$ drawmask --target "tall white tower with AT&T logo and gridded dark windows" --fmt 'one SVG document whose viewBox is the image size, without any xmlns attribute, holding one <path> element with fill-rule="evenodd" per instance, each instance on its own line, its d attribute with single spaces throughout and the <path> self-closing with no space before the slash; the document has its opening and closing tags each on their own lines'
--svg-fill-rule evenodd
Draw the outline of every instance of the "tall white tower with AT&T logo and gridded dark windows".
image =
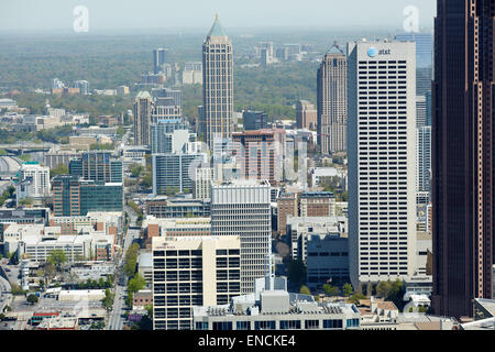
<svg viewBox="0 0 495 352">
<path fill-rule="evenodd" d="M 348 46 L 350 274 L 360 284 L 416 270 L 415 43 Z"/>
</svg>

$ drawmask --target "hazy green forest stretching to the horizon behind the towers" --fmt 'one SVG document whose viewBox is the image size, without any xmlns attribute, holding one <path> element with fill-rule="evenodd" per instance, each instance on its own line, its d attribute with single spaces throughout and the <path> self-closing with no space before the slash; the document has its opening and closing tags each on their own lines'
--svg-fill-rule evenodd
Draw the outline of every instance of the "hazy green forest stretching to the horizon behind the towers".
<svg viewBox="0 0 495 352">
<path fill-rule="evenodd" d="M 170 63 L 179 67 L 188 61 L 201 61 L 201 34 L 168 35 L 74 35 L 1 37 L 0 92 L 19 89 L 21 107 L 42 113 L 46 99 L 55 108 L 97 114 L 118 114 L 132 108 L 136 94 L 133 86 L 141 74 L 152 70 L 152 51 L 169 50 Z M 316 103 L 317 62 L 284 63 L 268 67 L 242 67 L 256 63 L 252 55 L 258 42 L 273 41 L 274 50 L 284 43 L 309 43 L 321 55 L 334 40 L 341 44 L 352 35 L 318 33 L 262 33 L 232 36 L 234 46 L 234 109 L 263 110 L 270 119 L 295 119 L 293 105 L 299 99 Z M 53 78 L 72 87 L 85 79 L 90 89 L 116 89 L 125 85 L 131 96 L 121 97 L 53 97 L 33 95 L 34 89 L 48 90 Z M 167 84 L 174 85 L 174 81 Z M 195 119 L 202 103 L 200 86 L 182 86 L 184 114 Z"/>
</svg>

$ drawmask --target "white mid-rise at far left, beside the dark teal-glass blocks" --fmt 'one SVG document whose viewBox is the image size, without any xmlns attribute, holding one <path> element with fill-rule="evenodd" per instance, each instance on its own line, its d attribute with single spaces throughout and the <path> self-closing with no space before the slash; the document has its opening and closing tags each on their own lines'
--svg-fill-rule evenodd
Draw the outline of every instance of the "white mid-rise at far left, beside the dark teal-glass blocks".
<svg viewBox="0 0 495 352">
<path fill-rule="evenodd" d="M 19 205 L 21 199 L 43 198 L 50 196 L 50 168 L 36 162 L 28 162 L 19 169 L 19 180 L 15 184 L 15 198 Z"/>
</svg>

